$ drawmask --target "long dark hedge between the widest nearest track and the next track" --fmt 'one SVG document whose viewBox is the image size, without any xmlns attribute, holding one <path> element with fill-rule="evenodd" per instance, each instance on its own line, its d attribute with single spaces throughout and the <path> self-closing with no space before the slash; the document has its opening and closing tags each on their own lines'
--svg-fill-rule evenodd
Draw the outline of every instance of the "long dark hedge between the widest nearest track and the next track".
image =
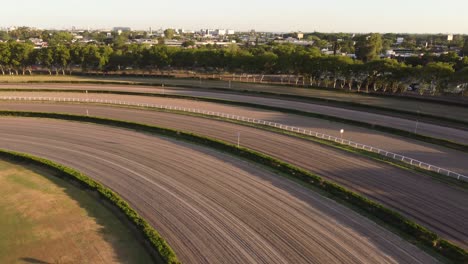
<svg viewBox="0 0 468 264">
<path fill-rule="evenodd" d="M 350 204 L 355 206 L 360 211 L 369 214 L 379 221 L 384 222 L 389 225 L 391 228 L 397 230 L 399 233 L 403 234 L 404 237 L 409 240 L 411 243 L 416 245 L 427 247 L 432 249 L 434 252 L 440 254 L 442 257 L 450 260 L 454 263 L 467 263 L 468 262 L 468 252 L 464 249 L 452 244 L 449 241 L 446 241 L 440 238 L 434 232 L 428 230 L 427 228 L 407 219 L 396 211 L 393 211 L 389 208 L 384 207 L 383 205 L 376 203 L 372 200 L 365 198 L 357 193 L 351 192 L 342 186 L 324 180 L 322 177 L 306 171 L 304 169 L 298 168 L 281 160 L 275 159 L 271 156 L 243 148 L 237 147 L 236 145 L 226 143 L 224 141 L 208 138 L 205 136 L 196 135 L 193 133 L 182 132 L 178 130 L 162 128 L 157 126 L 151 126 L 147 124 L 128 122 L 115 119 L 107 119 L 100 117 L 89 117 L 81 115 L 69 115 L 69 114 L 60 114 L 60 113 L 42 113 L 42 112 L 20 112 L 20 111 L 0 111 L 2 116 L 16 116 L 16 117 L 38 117 L 38 118 L 54 118 L 70 121 L 80 121 L 80 122 L 89 122 L 101 125 L 115 126 L 121 128 L 128 128 L 142 132 L 149 132 L 158 134 L 161 136 L 167 136 L 175 139 L 180 139 L 188 141 L 191 143 L 196 143 L 204 146 L 211 147 L 216 150 L 223 152 L 231 153 L 233 155 L 239 156 L 241 158 L 253 161 L 258 164 L 262 164 L 266 167 L 274 169 L 280 173 L 286 174 L 296 180 L 310 184 L 311 186 L 318 188 L 325 193 L 329 194 L 333 199 L 344 202 L 345 204 Z M 88 178 L 89 179 L 89 178 Z M 96 183 L 94 183 L 96 184 Z M 113 194 L 113 193 L 112 193 Z M 120 201 L 123 203 L 123 201 Z M 128 207 L 126 207 L 128 208 Z M 133 212 L 134 213 L 134 212 Z M 134 213 L 136 215 L 136 213 Z M 138 216 L 138 215 L 136 215 Z M 144 222 L 143 219 L 137 218 L 139 221 Z M 140 223 L 140 222 L 139 222 Z M 146 224 L 147 225 L 147 224 Z M 149 228 L 149 226 L 145 226 Z M 147 230 L 147 229 L 145 229 Z M 157 234 L 157 233 L 156 233 Z M 162 239 L 160 241 L 163 241 Z M 169 254 L 172 251 L 169 251 L 167 247 L 168 257 L 173 257 L 175 255 Z M 169 260 L 172 260 L 169 259 Z"/>
</svg>

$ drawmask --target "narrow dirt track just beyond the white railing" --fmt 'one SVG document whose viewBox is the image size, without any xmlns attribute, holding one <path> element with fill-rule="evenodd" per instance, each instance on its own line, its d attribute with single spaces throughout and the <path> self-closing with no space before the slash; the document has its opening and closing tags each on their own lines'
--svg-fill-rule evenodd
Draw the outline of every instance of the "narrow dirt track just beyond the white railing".
<svg viewBox="0 0 468 264">
<path fill-rule="evenodd" d="M 449 169 L 463 175 L 468 175 L 468 153 L 457 151 L 438 145 L 423 143 L 417 140 L 398 137 L 371 129 L 359 128 L 341 123 L 329 122 L 322 119 L 304 116 L 284 114 L 275 111 L 266 111 L 255 108 L 230 106 L 216 103 L 200 102 L 193 100 L 158 98 L 148 96 L 129 96 L 112 94 L 80 94 L 80 93 L 35 93 L 35 92 L 2 92 L 0 96 L 51 96 L 51 97 L 73 97 L 94 98 L 108 100 L 124 100 L 138 103 L 153 103 L 159 105 L 173 105 L 189 108 L 198 108 L 209 111 L 219 111 L 228 114 L 237 114 L 246 117 L 278 122 L 285 125 L 297 126 L 321 133 L 339 137 L 340 129 L 344 129 L 344 138 L 359 143 L 378 147 L 390 152 L 399 153 L 423 162 Z M 37 107 L 37 106 L 36 106 Z M 0 102 L 0 109 L 15 109 L 10 103 Z M 86 113 L 84 108 L 79 114 Z M 44 111 L 47 111 L 45 109 Z M 468 141 L 468 138 L 467 138 Z"/>
</svg>

